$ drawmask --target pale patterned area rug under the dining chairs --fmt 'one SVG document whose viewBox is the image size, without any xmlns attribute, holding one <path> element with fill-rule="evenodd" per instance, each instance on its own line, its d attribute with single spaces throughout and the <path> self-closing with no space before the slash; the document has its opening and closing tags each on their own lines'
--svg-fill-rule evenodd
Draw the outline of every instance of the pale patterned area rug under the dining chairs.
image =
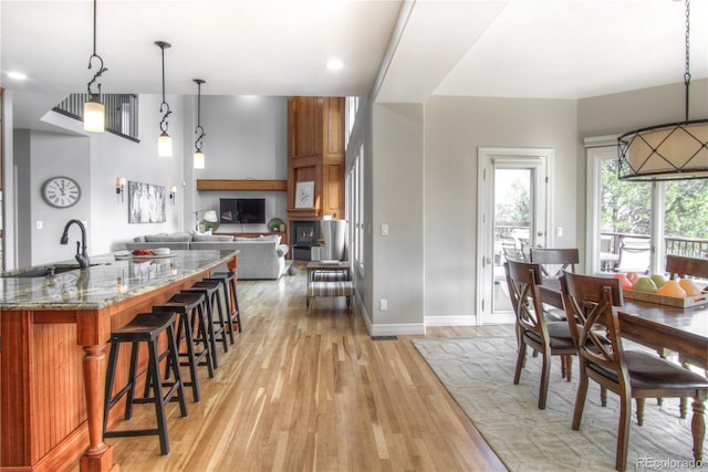
<svg viewBox="0 0 708 472">
<path fill-rule="evenodd" d="M 413 339 L 467 417 L 511 471 L 612 471 L 620 407 L 591 381 L 580 431 L 571 429 L 577 387 L 561 378 L 554 357 L 545 410 L 538 409 L 541 359 L 528 356 L 519 385 L 513 385 L 514 337 Z M 530 349 L 529 349 L 530 350 Z M 634 403 L 633 403 L 634 406 Z M 633 411 L 634 415 L 634 411 Z M 647 399 L 644 424 L 632 418 L 627 470 L 695 470 L 690 416 L 678 415 L 678 399 L 662 407 Z"/>
</svg>

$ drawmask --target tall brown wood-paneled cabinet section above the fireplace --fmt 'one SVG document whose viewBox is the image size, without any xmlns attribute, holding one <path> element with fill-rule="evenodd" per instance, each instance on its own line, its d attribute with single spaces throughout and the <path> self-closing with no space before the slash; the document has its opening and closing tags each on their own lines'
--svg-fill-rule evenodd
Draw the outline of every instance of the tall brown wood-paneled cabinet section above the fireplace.
<svg viewBox="0 0 708 472">
<path fill-rule="evenodd" d="M 314 182 L 312 207 L 295 201 Z M 306 185 L 305 185 L 306 186 Z M 344 218 L 344 98 L 288 98 L 288 219 Z"/>
</svg>

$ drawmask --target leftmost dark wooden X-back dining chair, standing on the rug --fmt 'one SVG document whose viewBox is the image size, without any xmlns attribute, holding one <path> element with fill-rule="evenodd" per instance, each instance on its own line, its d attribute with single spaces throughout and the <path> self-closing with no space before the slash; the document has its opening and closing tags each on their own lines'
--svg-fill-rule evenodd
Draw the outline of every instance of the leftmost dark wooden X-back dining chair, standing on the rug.
<svg viewBox="0 0 708 472">
<path fill-rule="evenodd" d="M 541 266 L 525 262 L 507 261 L 504 263 L 507 283 L 511 305 L 516 313 L 516 329 L 518 345 L 517 368 L 513 376 L 514 385 L 519 384 L 521 369 L 525 363 L 527 346 L 541 357 L 541 385 L 539 388 L 539 408 L 545 408 L 549 377 L 551 373 L 551 356 L 561 356 L 561 374 L 569 381 L 571 379 L 572 357 L 575 346 L 565 321 L 545 319 L 543 303 L 554 303 L 550 296 L 541 295 Z M 562 300 L 560 301 L 562 308 Z"/>
</svg>

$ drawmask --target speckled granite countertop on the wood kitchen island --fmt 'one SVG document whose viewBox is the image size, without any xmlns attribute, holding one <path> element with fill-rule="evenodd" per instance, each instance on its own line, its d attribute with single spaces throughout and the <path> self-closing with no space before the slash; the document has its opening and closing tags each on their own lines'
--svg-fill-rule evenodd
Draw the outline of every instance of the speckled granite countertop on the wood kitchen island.
<svg viewBox="0 0 708 472">
<path fill-rule="evenodd" d="M 0 277 L 2 310 L 98 310 L 187 279 L 195 272 L 225 264 L 238 251 L 177 251 L 169 256 L 133 258 L 122 251 L 91 256 L 91 266 L 55 275 L 21 276 L 48 265 L 65 268 L 75 261 L 6 272 Z M 20 276 L 19 276 L 20 275 Z"/>
</svg>

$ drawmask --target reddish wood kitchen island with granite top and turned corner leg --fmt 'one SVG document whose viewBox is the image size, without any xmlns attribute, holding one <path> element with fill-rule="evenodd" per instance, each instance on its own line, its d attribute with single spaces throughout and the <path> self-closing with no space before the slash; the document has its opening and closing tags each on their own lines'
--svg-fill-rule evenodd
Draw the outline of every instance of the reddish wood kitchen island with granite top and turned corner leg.
<svg viewBox="0 0 708 472">
<path fill-rule="evenodd" d="M 103 441 L 106 342 L 138 313 L 228 266 L 238 251 L 92 256 L 0 279 L 0 470 L 117 470 Z M 124 360 L 127 358 L 123 358 Z M 123 361 L 117 378 L 127 378 Z"/>
</svg>

